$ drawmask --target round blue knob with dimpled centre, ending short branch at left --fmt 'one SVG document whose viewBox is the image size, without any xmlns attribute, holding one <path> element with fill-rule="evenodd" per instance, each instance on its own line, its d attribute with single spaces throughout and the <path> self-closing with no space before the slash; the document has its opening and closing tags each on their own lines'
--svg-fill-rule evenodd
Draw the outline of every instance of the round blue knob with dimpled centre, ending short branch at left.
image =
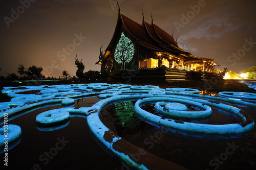
<svg viewBox="0 0 256 170">
<path fill-rule="evenodd" d="M 58 126 L 69 121 L 70 114 L 64 110 L 49 110 L 36 116 L 36 124 L 40 127 Z"/>
</svg>

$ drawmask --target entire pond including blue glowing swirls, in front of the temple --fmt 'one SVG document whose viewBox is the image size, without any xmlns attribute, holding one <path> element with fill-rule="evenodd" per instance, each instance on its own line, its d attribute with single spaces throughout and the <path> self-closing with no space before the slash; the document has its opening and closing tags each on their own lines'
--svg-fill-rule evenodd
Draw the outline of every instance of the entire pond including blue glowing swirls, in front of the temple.
<svg viewBox="0 0 256 170">
<path fill-rule="evenodd" d="M 250 93 L 234 92 L 230 98 L 196 89 L 106 83 L 3 92 L 11 98 L 1 94 L 0 106 L 10 108 L 2 109 L 0 127 L 8 113 L 8 125 L 22 131 L 7 152 L 2 147 L 9 169 L 256 168 L 256 106 Z M 74 103 L 63 105 L 67 98 Z M 38 127 L 37 116 L 49 111 L 70 116 L 65 124 Z"/>
</svg>

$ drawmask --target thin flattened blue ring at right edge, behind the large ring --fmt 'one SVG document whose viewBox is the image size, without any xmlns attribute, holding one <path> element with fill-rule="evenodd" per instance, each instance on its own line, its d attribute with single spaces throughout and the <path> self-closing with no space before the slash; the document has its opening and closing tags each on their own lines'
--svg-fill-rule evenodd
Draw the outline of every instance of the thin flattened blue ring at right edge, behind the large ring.
<svg viewBox="0 0 256 170">
<path fill-rule="evenodd" d="M 225 98 L 241 99 L 241 100 L 256 100 L 256 93 L 236 92 L 236 91 L 222 91 L 219 95 Z"/>
</svg>

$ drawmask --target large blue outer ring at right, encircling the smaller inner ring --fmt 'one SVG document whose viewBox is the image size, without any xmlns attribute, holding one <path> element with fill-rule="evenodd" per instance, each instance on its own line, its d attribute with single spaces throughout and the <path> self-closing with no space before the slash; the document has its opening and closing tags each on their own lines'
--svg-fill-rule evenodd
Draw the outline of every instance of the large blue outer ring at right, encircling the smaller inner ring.
<svg viewBox="0 0 256 170">
<path fill-rule="evenodd" d="M 244 111 L 229 105 L 225 105 L 225 109 L 229 110 L 234 114 L 239 115 L 240 117 L 243 117 L 243 120 L 244 120 L 243 123 L 227 124 L 227 125 L 207 125 L 207 124 L 188 123 L 180 120 L 163 118 L 161 116 L 154 115 L 140 108 L 140 106 L 142 106 L 145 103 L 164 101 L 164 100 L 166 100 L 166 98 L 145 98 L 142 100 L 138 100 L 134 106 L 135 113 L 139 117 L 143 118 L 146 122 L 158 128 L 160 126 L 164 126 L 166 128 L 171 128 L 171 129 L 175 128 L 175 129 L 190 131 L 190 132 L 211 133 L 211 134 L 237 134 L 237 133 L 250 131 L 254 127 L 254 122 L 249 115 L 247 115 Z"/>
</svg>

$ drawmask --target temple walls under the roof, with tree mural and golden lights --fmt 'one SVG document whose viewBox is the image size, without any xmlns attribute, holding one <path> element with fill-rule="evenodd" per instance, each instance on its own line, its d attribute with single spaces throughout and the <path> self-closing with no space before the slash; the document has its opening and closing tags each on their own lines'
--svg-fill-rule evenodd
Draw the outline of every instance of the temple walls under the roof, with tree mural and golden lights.
<svg viewBox="0 0 256 170">
<path fill-rule="evenodd" d="M 162 58 L 161 65 L 165 65 L 167 68 L 185 69 L 187 71 L 209 71 L 205 65 L 205 61 L 202 60 L 186 61 L 179 59 L 178 56 L 176 56 L 175 59 L 172 59 L 172 56 L 168 61 L 166 56 L 163 56 L 163 53 L 140 46 L 132 36 L 126 33 L 125 29 L 120 30 L 117 42 L 110 52 L 110 55 L 112 54 L 114 57 L 112 71 L 117 68 L 133 69 L 134 67 L 137 68 L 137 66 L 140 68 L 156 68 L 160 66 L 159 58 Z"/>
</svg>

